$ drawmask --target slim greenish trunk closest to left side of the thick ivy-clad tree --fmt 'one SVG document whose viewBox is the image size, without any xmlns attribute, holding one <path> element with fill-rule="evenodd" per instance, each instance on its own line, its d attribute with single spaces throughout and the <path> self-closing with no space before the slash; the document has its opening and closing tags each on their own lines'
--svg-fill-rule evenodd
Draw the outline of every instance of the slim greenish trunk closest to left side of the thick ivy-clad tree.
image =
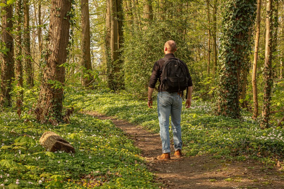
<svg viewBox="0 0 284 189">
<path fill-rule="evenodd" d="M 213 74 L 216 74 L 217 69 L 217 0 L 214 0 L 214 6 L 213 6 Z"/>
</svg>

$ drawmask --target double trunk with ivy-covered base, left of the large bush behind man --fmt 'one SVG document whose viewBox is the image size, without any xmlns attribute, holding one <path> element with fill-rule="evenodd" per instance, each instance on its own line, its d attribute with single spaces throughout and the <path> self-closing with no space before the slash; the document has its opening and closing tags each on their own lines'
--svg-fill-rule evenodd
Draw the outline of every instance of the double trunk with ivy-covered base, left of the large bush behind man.
<svg viewBox="0 0 284 189">
<path fill-rule="evenodd" d="M 121 0 L 107 0 L 106 12 L 106 50 L 108 87 L 114 91 L 124 87 L 121 73 L 121 48 L 123 45 L 122 3 Z"/>
</svg>

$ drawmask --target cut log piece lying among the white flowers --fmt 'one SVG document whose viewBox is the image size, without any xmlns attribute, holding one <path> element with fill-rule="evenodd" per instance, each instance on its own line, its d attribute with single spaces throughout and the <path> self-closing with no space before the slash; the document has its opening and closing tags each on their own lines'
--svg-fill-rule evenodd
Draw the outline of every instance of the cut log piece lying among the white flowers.
<svg viewBox="0 0 284 189">
<path fill-rule="evenodd" d="M 39 139 L 39 142 L 48 151 L 65 151 L 67 153 L 75 153 L 75 148 L 71 146 L 68 141 L 51 131 L 43 133 L 43 135 Z"/>
</svg>

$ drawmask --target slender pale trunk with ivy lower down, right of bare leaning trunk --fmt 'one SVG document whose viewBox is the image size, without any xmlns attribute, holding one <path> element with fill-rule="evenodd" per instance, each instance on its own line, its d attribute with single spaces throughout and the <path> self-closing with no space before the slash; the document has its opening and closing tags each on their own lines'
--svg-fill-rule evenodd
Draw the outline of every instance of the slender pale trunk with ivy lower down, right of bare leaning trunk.
<svg viewBox="0 0 284 189">
<path fill-rule="evenodd" d="M 270 120 L 270 100 L 271 88 L 273 85 L 272 79 L 272 0 L 267 0 L 266 4 L 266 40 L 265 40 L 265 63 L 264 63 L 264 96 L 262 108 L 261 128 L 269 127 Z"/>
</svg>

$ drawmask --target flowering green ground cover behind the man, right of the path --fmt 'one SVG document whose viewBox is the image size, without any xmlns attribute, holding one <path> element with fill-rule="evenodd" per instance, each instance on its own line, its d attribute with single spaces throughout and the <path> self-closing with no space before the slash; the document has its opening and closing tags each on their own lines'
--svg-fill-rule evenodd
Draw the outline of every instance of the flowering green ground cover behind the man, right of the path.
<svg viewBox="0 0 284 189">
<path fill-rule="evenodd" d="M 82 111 L 97 111 L 159 132 L 156 101 L 150 109 L 146 101 L 130 94 L 109 93 L 107 90 L 81 91 L 69 94 L 66 105 Z M 258 159 L 274 164 L 283 162 L 284 135 L 282 128 L 261 130 L 259 123 L 243 112 L 241 120 L 212 115 L 210 102 L 192 102 L 182 110 L 183 152 L 188 155 L 212 154 L 215 158 L 235 160 Z M 276 161 L 275 161 L 276 160 Z"/>
</svg>

